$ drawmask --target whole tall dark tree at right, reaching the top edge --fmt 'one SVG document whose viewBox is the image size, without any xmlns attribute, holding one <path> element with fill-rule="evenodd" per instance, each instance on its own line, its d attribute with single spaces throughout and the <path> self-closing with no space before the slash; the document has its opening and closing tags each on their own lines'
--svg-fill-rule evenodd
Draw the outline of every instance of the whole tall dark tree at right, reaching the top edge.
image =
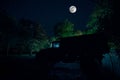
<svg viewBox="0 0 120 80">
<path fill-rule="evenodd" d="M 96 3 L 96 7 L 87 26 L 93 30 L 95 28 L 96 32 L 104 32 L 109 38 L 109 43 L 115 44 L 120 50 L 119 2 L 117 0 L 91 1 Z"/>
</svg>

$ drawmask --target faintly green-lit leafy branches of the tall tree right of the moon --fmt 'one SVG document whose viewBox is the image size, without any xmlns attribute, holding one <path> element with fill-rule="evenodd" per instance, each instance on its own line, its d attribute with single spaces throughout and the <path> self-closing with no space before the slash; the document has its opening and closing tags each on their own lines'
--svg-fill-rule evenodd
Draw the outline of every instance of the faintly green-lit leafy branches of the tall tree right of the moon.
<svg viewBox="0 0 120 80">
<path fill-rule="evenodd" d="M 90 15 L 90 20 L 87 23 L 87 27 L 89 28 L 88 32 L 96 33 L 104 31 L 104 29 L 106 29 L 106 23 L 108 23 L 106 19 L 110 19 L 112 13 L 108 0 L 99 1 L 99 4 L 96 4 L 93 13 Z"/>
</svg>

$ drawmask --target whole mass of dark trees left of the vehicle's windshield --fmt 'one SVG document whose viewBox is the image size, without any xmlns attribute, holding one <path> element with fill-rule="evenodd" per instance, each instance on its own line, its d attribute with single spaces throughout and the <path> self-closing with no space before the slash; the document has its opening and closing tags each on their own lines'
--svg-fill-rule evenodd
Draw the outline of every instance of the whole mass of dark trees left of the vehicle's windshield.
<svg viewBox="0 0 120 80">
<path fill-rule="evenodd" d="M 38 52 L 49 47 L 47 33 L 41 24 L 32 20 L 16 21 L 5 10 L 0 10 L 0 53 Z"/>
</svg>

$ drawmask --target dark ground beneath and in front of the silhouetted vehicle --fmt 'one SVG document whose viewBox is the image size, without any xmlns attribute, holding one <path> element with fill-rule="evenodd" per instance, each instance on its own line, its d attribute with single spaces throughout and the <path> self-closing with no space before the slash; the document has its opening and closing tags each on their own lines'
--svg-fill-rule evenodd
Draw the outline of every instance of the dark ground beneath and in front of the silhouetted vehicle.
<svg viewBox="0 0 120 80">
<path fill-rule="evenodd" d="M 44 69 L 36 63 L 35 57 L 0 57 L 0 80 L 91 80 L 82 72 L 78 62 L 56 63 L 48 75 L 44 75 Z M 89 68 L 89 67 L 88 67 Z M 42 71 L 42 72 L 40 72 Z M 109 71 L 102 70 L 97 80 L 120 80 Z M 99 73 L 99 72 L 98 72 Z M 91 72 L 92 74 L 92 72 Z M 98 76 L 94 76 L 98 77 Z"/>
</svg>

